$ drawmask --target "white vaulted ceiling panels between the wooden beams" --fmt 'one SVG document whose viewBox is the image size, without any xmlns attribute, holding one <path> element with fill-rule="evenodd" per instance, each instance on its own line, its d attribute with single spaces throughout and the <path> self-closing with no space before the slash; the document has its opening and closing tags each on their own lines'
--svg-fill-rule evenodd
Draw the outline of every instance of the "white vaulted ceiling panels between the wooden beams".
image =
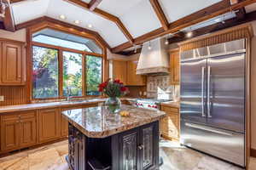
<svg viewBox="0 0 256 170">
<path fill-rule="evenodd" d="M 90 0 L 83 1 L 90 3 Z M 220 0 L 159 1 L 166 14 L 167 20 L 173 22 L 201 8 L 206 8 L 213 3 L 218 3 Z M 81 20 L 78 26 L 99 32 L 112 48 L 127 42 L 124 34 L 112 21 L 103 19 L 84 8 L 79 8 L 63 0 L 27 0 L 20 3 L 13 3 L 12 7 L 15 24 L 20 24 L 44 15 L 56 20 L 61 20 L 59 16 L 64 14 L 67 19 L 63 21 L 75 25 L 74 20 Z M 149 0 L 103 0 L 98 8 L 119 17 L 134 38 L 161 27 L 160 21 L 154 13 L 154 9 L 151 7 Z M 250 5 L 246 9 L 247 12 L 251 12 L 256 9 L 256 4 Z M 93 27 L 89 28 L 89 24 Z"/>
</svg>

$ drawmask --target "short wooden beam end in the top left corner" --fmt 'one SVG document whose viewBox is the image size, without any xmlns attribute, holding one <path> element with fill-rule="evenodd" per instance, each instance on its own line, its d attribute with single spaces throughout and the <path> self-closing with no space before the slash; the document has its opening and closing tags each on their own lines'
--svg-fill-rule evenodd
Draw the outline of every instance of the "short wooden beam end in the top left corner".
<svg viewBox="0 0 256 170">
<path fill-rule="evenodd" d="M 4 0 L 7 2 L 7 0 Z M 12 8 L 8 7 L 5 9 L 5 17 L 3 18 L 3 25 L 7 31 L 15 31 L 15 19 L 13 16 Z"/>
</svg>

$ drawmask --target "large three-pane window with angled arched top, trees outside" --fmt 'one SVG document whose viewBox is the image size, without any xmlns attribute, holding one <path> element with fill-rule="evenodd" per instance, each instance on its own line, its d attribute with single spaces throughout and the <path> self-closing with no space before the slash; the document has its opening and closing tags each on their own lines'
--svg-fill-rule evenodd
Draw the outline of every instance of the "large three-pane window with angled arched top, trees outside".
<svg viewBox="0 0 256 170">
<path fill-rule="evenodd" d="M 32 34 L 32 97 L 100 95 L 102 48 L 94 40 L 49 28 Z"/>
</svg>

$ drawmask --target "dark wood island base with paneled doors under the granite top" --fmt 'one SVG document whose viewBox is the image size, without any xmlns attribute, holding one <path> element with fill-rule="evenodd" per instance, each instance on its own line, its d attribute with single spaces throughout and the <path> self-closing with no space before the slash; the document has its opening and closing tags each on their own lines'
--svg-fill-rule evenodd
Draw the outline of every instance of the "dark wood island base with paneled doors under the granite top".
<svg viewBox="0 0 256 170">
<path fill-rule="evenodd" d="M 104 139 L 88 138 L 70 123 L 68 133 L 72 170 L 159 169 L 158 121 Z"/>
</svg>

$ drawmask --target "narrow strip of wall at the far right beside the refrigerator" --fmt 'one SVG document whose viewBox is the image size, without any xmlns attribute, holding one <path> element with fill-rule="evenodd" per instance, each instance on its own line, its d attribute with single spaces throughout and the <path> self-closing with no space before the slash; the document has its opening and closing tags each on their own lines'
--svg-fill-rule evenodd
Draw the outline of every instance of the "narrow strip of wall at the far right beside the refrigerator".
<svg viewBox="0 0 256 170">
<path fill-rule="evenodd" d="M 252 39 L 251 54 L 251 134 L 253 150 L 256 150 L 256 22 L 252 22 L 254 37 Z"/>
</svg>

